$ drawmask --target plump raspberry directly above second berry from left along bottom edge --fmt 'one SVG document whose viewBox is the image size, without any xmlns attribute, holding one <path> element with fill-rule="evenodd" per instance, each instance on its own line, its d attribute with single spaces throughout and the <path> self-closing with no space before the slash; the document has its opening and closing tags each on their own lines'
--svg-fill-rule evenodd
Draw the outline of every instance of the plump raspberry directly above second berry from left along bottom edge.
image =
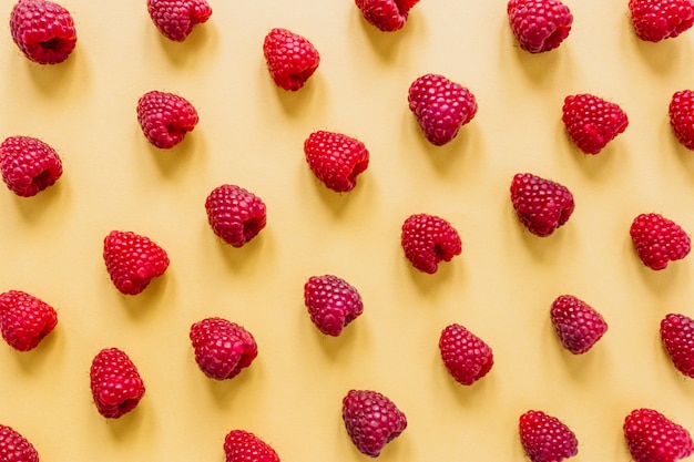
<svg viewBox="0 0 694 462">
<path fill-rule="evenodd" d="M 255 339 L 236 322 L 206 318 L 191 326 L 195 361 L 205 376 L 225 380 L 236 377 L 258 355 Z"/>
</svg>

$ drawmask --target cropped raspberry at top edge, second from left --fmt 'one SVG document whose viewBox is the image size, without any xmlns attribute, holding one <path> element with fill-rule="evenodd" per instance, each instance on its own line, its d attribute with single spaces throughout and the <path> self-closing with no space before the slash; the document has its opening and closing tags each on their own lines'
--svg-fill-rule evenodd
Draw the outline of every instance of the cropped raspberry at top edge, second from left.
<svg viewBox="0 0 694 462">
<path fill-rule="evenodd" d="M 183 42 L 193 27 L 212 16 L 205 0 L 147 0 L 147 11 L 156 29 L 175 42 Z"/>
</svg>

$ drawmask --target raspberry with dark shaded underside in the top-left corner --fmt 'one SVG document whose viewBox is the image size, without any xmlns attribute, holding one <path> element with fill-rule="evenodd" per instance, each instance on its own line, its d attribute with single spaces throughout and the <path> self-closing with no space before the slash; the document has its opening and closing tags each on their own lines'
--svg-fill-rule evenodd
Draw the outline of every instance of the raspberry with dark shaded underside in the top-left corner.
<svg viewBox="0 0 694 462">
<path fill-rule="evenodd" d="M 65 61 L 78 42 L 70 12 L 48 0 L 19 0 L 10 14 L 10 31 L 21 52 L 39 64 Z"/>
</svg>

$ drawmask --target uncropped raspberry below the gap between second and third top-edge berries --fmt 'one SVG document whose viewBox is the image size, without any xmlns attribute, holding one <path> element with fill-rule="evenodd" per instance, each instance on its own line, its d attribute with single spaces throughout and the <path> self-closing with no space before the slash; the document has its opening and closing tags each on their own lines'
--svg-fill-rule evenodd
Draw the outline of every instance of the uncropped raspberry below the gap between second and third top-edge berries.
<svg viewBox="0 0 694 462">
<path fill-rule="evenodd" d="M 263 54 L 273 81 L 284 90 L 299 90 L 320 64 L 320 55 L 313 43 L 280 28 L 265 35 Z"/>
</svg>

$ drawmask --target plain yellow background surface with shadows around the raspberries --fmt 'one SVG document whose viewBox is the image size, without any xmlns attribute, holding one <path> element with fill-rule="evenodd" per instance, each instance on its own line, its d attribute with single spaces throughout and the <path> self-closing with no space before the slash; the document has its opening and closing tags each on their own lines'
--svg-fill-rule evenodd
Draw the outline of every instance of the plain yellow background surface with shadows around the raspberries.
<svg viewBox="0 0 694 462">
<path fill-rule="evenodd" d="M 408 428 L 382 461 L 521 461 L 518 417 L 541 409 L 579 439 L 575 461 L 629 461 L 624 417 L 651 407 L 694 430 L 694 382 L 657 333 L 671 311 L 694 314 L 694 258 L 652 271 L 629 237 L 640 213 L 694 230 L 694 153 L 671 133 L 667 104 L 692 86 L 694 32 L 661 43 L 635 38 L 626 1 L 565 0 L 563 44 L 521 51 L 506 0 L 422 0 L 399 32 L 367 24 L 350 0 L 214 1 L 184 43 L 151 22 L 144 0 L 62 0 L 78 47 L 59 65 L 29 62 L 0 38 L 0 134 L 37 136 L 64 174 L 32 198 L 0 191 L 0 286 L 54 306 L 59 324 L 33 351 L 0 346 L 0 422 L 44 461 L 223 461 L 224 435 L 253 431 L 283 461 L 367 460 L 347 438 L 340 402 L 378 390 Z M 2 0 L 9 21 L 13 2 Z M 306 86 L 277 89 L 262 43 L 271 28 L 308 38 L 322 54 Z M 441 73 L 468 86 L 479 111 L 442 147 L 423 140 L 409 84 Z M 170 152 L 151 146 L 135 104 L 171 91 L 200 124 Z M 591 92 L 620 104 L 626 132 L 585 156 L 561 123 L 563 97 Z M 370 151 L 349 194 L 308 170 L 315 130 L 347 133 Z M 569 223 L 548 238 L 513 215 L 513 174 L 567 185 Z M 267 205 L 267 227 L 235 249 L 210 229 L 207 194 L 243 186 Z M 414 213 L 450 220 L 462 255 L 436 275 L 405 259 L 400 225 Z M 112 229 L 151 237 L 171 258 L 141 295 L 122 296 L 102 260 Z M 334 274 L 356 286 L 364 315 L 339 338 L 310 322 L 303 285 Z M 586 355 L 563 350 L 551 301 L 572 294 L 610 325 Z M 223 316 L 245 326 L 259 353 L 231 381 L 195 365 L 191 324 Z M 471 387 L 442 367 L 438 337 L 459 322 L 493 349 Z M 104 347 L 125 350 L 146 384 L 140 405 L 102 418 L 89 367 Z"/>
</svg>

